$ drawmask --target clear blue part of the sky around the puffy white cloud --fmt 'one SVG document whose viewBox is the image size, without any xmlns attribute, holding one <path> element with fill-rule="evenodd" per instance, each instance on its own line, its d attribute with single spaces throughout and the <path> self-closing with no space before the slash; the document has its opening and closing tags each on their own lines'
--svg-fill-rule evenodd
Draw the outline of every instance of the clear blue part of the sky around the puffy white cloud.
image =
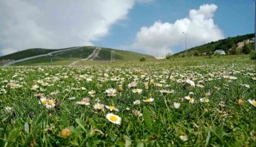
<svg viewBox="0 0 256 147">
<path fill-rule="evenodd" d="M 127 20 L 122 20 L 111 28 L 111 34 L 102 38 L 95 45 L 120 48 L 131 45 L 136 33 L 142 26 L 150 26 L 156 20 L 174 23 L 176 20 L 188 17 L 191 9 L 198 9 L 202 4 L 215 4 L 214 22 L 223 30 L 224 37 L 235 37 L 254 33 L 254 1 L 247 0 L 161 0 L 146 4 L 137 4 L 128 14 Z M 189 40 L 188 40 L 189 42 Z M 182 49 L 181 46 L 177 46 Z M 137 51 L 136 49 L 134 49 Z M 139 50 L 139 52 L 144 52 Z"/>
</svg>

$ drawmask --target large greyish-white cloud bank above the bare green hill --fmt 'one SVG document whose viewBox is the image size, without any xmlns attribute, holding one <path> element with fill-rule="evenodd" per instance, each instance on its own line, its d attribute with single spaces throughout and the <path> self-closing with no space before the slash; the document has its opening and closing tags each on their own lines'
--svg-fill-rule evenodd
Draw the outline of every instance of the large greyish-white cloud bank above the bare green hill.
<svg viewBox="0 0 256 147">
<path fill-rule="evenodd" d="M 125 19 L 136 2 L 149 1 L 0 0 L 0 52 L 92 45 Z"/>
</svg>

